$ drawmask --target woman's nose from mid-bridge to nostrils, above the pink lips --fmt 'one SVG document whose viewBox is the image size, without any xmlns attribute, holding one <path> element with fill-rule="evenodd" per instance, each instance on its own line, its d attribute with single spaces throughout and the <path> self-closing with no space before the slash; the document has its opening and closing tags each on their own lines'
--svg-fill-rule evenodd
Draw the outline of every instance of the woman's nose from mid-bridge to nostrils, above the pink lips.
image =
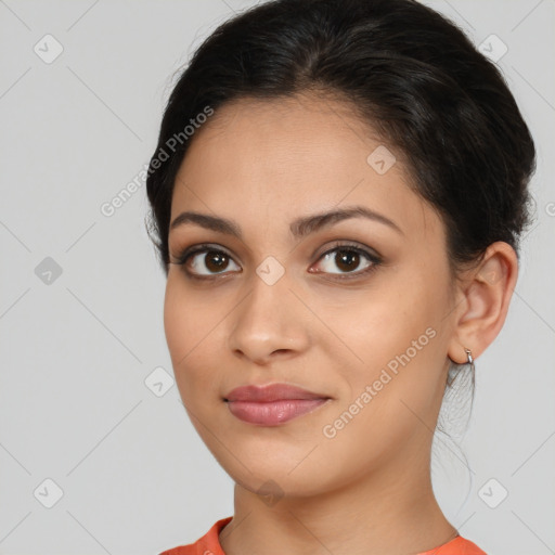
<svg viewBox="0 0 555 555">
<path fill-rule="evenodd" d="M 269 285 L 257 275 L 246 298 L 232 312 L 229 347 L 256 364 L 293 358 L 310 344 L 308 310 L 282 276 Z"/>
</svg>

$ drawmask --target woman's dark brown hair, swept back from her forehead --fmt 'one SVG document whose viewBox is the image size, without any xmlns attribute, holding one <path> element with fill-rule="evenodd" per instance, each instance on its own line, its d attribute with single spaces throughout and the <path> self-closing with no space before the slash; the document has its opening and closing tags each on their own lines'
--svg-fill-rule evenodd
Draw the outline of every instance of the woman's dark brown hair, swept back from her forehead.
<svg viewBox="0 0 555 555">
<path fill-rule="evenodd" d="M 414 0 L 273 0 L 220 25 L 168 100 L 146 179 L 147 231 L 166 273 L 175 178 L 194 137 L 185 127 L 234 99 L 310 90 L 350 100 L 408 160 L 415 191 L 443 219 L 454 273 L 495 241 L 518 255 L 535 150 L 496 65 Z"/>
</svg>

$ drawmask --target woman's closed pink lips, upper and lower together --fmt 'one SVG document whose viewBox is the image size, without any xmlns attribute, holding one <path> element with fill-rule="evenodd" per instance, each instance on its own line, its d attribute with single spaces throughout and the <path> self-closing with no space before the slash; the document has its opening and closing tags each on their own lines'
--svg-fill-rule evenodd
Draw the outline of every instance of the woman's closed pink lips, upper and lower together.
<svg viewBox="0 0 555 555">
<path fill-rule="evenodd" d="M 308 414 L 331 398 L 287 384 L 243 386 L 224 398 L 230 412 L 243 422 L 262 426 L 279 426 Z"/>
</svg>

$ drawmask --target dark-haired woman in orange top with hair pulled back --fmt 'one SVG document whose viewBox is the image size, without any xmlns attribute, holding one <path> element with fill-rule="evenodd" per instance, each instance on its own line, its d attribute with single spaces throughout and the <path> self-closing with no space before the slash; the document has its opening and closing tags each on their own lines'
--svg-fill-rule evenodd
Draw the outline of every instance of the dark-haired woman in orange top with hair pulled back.
<svg viewBox="0 0 555 555">
<path fill-rule="evenodd" d="M 495 65 L 412 0 L 270 1 L 201 46 L 150 230 L 234 515 L 165 555 L 483 554 L 435 499 L 431 440 L 505 321 L 534 156 Z"/>
</svg>

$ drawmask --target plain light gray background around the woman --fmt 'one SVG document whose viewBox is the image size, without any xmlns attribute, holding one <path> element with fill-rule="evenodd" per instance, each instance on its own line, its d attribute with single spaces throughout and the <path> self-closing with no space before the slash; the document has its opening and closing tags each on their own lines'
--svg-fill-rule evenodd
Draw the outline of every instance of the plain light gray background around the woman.
<svg viewBox="0 0 555 555">
<path fill-rule="evenodd" d="M 101 206 L 152 155 L 173 73 L 254 3 L 0 1 L 1 554 L 154 554 L 232 515 L 232 481 L 169 387 L 143 182 L 113 216 Z M 507 321 L 477 361 L 462 451 L 440 446 L 434 486 L 489 554 L 555 553 L 555 2 L 427 3 L 476 44 L 506 44 L 498 64 L 539 151 Z M 63 47 L 51 63 L 47 34 Z M 145 384 L 157 367 L 160 397 Z M 51 508 L 46 479 L 63 491 Z"/>
</svg>

